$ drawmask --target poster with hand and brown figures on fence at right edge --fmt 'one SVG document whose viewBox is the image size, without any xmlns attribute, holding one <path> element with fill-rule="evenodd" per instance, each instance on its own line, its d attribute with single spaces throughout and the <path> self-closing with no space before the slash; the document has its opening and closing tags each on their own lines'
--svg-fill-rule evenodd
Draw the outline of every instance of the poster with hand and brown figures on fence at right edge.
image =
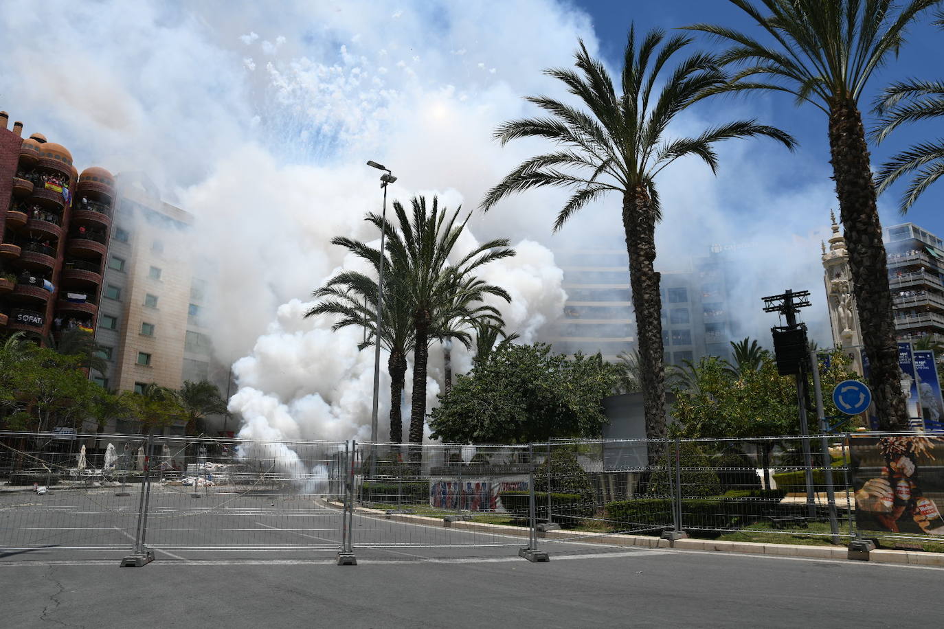
<svg viewBox="0 0 944 629">
<path fill-rule="evenodd" d="M 944 535 L 944 439 L 852 436 L 850 452 L 861 534 Z"/>
</svg>

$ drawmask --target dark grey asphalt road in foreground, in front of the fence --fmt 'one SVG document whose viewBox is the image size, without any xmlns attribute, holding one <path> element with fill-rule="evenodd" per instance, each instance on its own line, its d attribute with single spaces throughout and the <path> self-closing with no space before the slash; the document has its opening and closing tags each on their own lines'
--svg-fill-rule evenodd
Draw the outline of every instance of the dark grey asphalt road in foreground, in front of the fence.
<svg viewBox="0 0 944 629">
<path fill-rule="evenodd" d="M 933 627 L 944 571 L 624 550 L 330 562 L 0 562 L 3 626 Z"/>
</svg>

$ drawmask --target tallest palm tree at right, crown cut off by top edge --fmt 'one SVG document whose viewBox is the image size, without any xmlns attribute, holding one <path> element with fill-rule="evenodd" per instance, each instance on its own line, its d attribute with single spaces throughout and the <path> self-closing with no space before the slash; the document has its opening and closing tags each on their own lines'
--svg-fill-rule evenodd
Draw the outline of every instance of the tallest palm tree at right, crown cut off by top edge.
<svg viewBox="0 0 944 629">
<path fill-rule="evenodd" d="M 885 246 L 859 99 L 875 69 L 897 54 L 907 26 L 938 1 L 910 0 L 899 8 L 893 0 L 761 0 L 770 13 L 765 15 L 750 0 L 731 0 L 774 40 L 770 45 L 727 26 L 687 27 L 730 42 L 719 62 L 740 67 L 728 85 L 706 93 L 784 91 L 798 105 L 810 104 L 828 118 L 869 383 L 884 429 L 907 428 L 908 414 L 898 386 Z"/>
</svg>

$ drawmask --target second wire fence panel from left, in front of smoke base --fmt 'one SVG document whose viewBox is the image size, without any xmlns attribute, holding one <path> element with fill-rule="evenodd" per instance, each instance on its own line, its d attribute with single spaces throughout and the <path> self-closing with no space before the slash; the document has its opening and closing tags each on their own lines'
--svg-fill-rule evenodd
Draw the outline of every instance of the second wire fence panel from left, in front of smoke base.
<svg viewBox="0 0 944 629">
<path fill-rule="evenodd" d="M 155 438 L 147 545 L 191 553 L 337 551 L 345 444 Z"/>
</svg>

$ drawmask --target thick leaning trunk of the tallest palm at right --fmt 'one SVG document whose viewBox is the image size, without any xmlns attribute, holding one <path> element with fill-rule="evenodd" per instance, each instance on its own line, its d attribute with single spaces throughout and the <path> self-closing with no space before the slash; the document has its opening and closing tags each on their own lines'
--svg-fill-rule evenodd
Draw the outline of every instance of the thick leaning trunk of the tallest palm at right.
<svg viewBox="0 0 944 629">
<path fill-rule="evenodd" d="M 882 224 L 875 205 L 862 114 L 854 102 L 832 104 L 829 143 L 839 212 L 849 248 L 852 290 L 868 355 L 868 384 L 879 427 L 904 430 L 908 427 L 908 409 L 899 384 Z"/>
</svg>

